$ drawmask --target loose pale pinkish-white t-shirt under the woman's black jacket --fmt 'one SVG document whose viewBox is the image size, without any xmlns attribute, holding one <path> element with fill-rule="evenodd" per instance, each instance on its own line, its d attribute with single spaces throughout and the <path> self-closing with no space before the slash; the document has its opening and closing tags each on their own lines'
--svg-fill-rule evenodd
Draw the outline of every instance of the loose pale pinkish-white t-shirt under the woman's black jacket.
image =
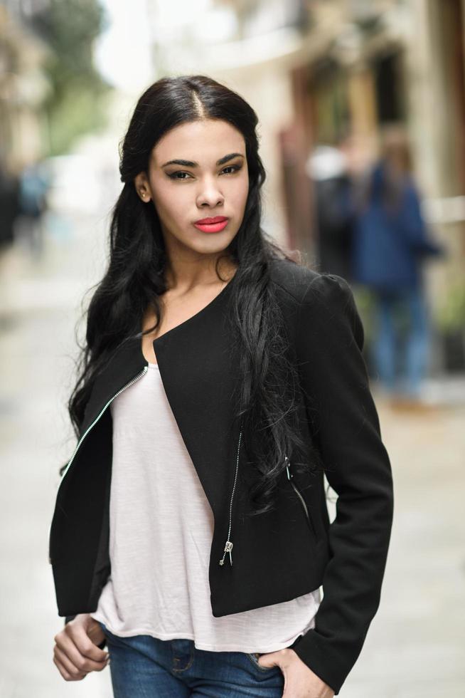
<svg viewBox="0 0 465 698">
<path fill-rule="evenodd" d="M 120 637 L 194 640 L 200 650 L 274 652 L 314 627 L 319 589 L 215 618 L 208 565 L 213 512 L 181 437 L 159 368 L 112 402 L 112 572 L 92 618 Z"/>
</svg>

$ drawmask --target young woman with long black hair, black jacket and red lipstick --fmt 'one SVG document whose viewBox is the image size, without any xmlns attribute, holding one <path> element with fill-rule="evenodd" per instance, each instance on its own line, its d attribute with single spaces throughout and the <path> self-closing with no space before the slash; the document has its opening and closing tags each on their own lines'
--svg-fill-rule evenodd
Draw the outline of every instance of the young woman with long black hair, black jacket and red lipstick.
<svg viewBox="0 0 465 698">
<path fill-rule="evenodd" d="M 116 698 L 331 698 L 380 600 L 363 328 L 342 278 L 262 231 L 256 127 L 215 80 L 164 78 L 122 145 L 50 528 L 55 665 L 82 679 L 107 645 Z"/>
</svg>

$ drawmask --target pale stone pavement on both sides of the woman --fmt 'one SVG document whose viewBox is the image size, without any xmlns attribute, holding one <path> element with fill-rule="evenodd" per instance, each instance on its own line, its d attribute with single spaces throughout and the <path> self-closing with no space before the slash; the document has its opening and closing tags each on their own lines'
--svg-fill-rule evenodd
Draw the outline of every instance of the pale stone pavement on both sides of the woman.
<svg viewBox="0 0 465 698">
<path fill-rule="evenodd" d="M 104 222 L 82 222 L 1 255 L 1 698 L 110 698 L 109 670 L 65 683 L 52 662 L 56 615 L 48 526 L 73 438 L 65 412 L 75 322 L 102 265 Z M 395 478 L 395 523 L 380 610 L 344 698 L 465 697 L 465 392 L 424 414 L 377 399 Z M 448 395 L 454 395 L 449 400 Z M 376 393 L 375 393 L 376 395 Z"/>
</svg>

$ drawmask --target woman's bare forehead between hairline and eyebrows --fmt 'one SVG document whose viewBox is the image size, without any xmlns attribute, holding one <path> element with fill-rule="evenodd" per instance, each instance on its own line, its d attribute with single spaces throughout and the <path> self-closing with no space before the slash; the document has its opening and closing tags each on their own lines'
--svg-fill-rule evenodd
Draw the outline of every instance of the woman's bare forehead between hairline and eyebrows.
<svg viewBox="0 0 465 698">
<path fill-rule="evenodd" d="M 154 146 L 151 160 L 161 165 L 178 157 L 208 165 L 227 152 L 240 152 L 245 156 L 242 133 L 226 121 L 208 119 L 172 128 Z"/>
</svg>

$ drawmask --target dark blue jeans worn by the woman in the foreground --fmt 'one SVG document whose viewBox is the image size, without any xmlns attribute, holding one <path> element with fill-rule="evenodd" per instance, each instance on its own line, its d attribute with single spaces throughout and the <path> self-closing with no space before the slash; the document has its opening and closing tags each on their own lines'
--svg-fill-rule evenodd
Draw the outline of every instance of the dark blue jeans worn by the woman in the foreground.
<svg viewBox="0 0 465 698">
<path fill-rule="evenodd" d="M 193 640 L 150 635 L 107 638 L 114 698 L 282 698 L 284 674 L 257 655 L 198 650 Z"/>
</svg>

